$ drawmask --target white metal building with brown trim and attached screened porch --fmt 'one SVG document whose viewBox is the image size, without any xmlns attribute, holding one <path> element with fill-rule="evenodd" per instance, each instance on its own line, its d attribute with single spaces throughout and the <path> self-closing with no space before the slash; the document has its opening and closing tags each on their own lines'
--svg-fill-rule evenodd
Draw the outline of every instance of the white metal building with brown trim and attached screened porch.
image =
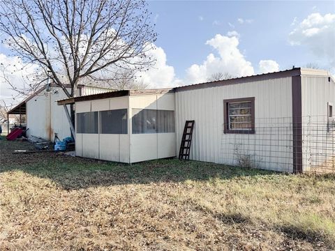
<svg viewBox="0 0 335 251">
<path fill-rule="evenodd" d="M 335 157 L 335 83 L 324 70 L 276 73 L 59 100 L 76 106 L 76 155 L 118 162 L 177 156 L 195 121 L 191 160 L 305 172 Z"/>
</svg>

